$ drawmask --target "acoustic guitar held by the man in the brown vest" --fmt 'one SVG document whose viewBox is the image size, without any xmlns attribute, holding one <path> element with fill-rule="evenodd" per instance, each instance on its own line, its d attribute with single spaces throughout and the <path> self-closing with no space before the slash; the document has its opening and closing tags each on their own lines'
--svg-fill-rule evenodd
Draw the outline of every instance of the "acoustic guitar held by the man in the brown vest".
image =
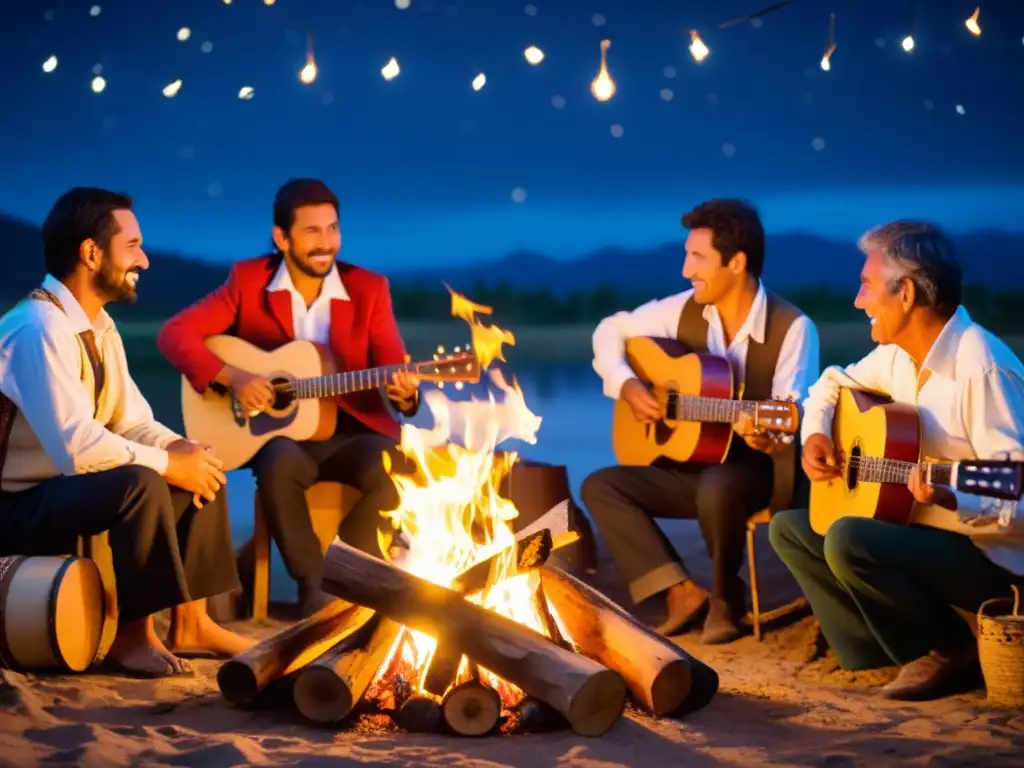
<svg viewBox="0 0 1024 768">
<path fill-rule="evenodd" d="M 620 464 L 647 465 L 659 458 L 720 464 L 729 453 L 732 425 L 750 415 L 755 429 L 785 442 L 800 426 L 792 400 L 739 399 L 732 364 L 694 352 L 675 339 L 638 336 L 626 342 L 626 359 L 646 384 L 665 417 L 637 420 L 625 400 L 615 400 L 611 443 Z"/>
</svg>

